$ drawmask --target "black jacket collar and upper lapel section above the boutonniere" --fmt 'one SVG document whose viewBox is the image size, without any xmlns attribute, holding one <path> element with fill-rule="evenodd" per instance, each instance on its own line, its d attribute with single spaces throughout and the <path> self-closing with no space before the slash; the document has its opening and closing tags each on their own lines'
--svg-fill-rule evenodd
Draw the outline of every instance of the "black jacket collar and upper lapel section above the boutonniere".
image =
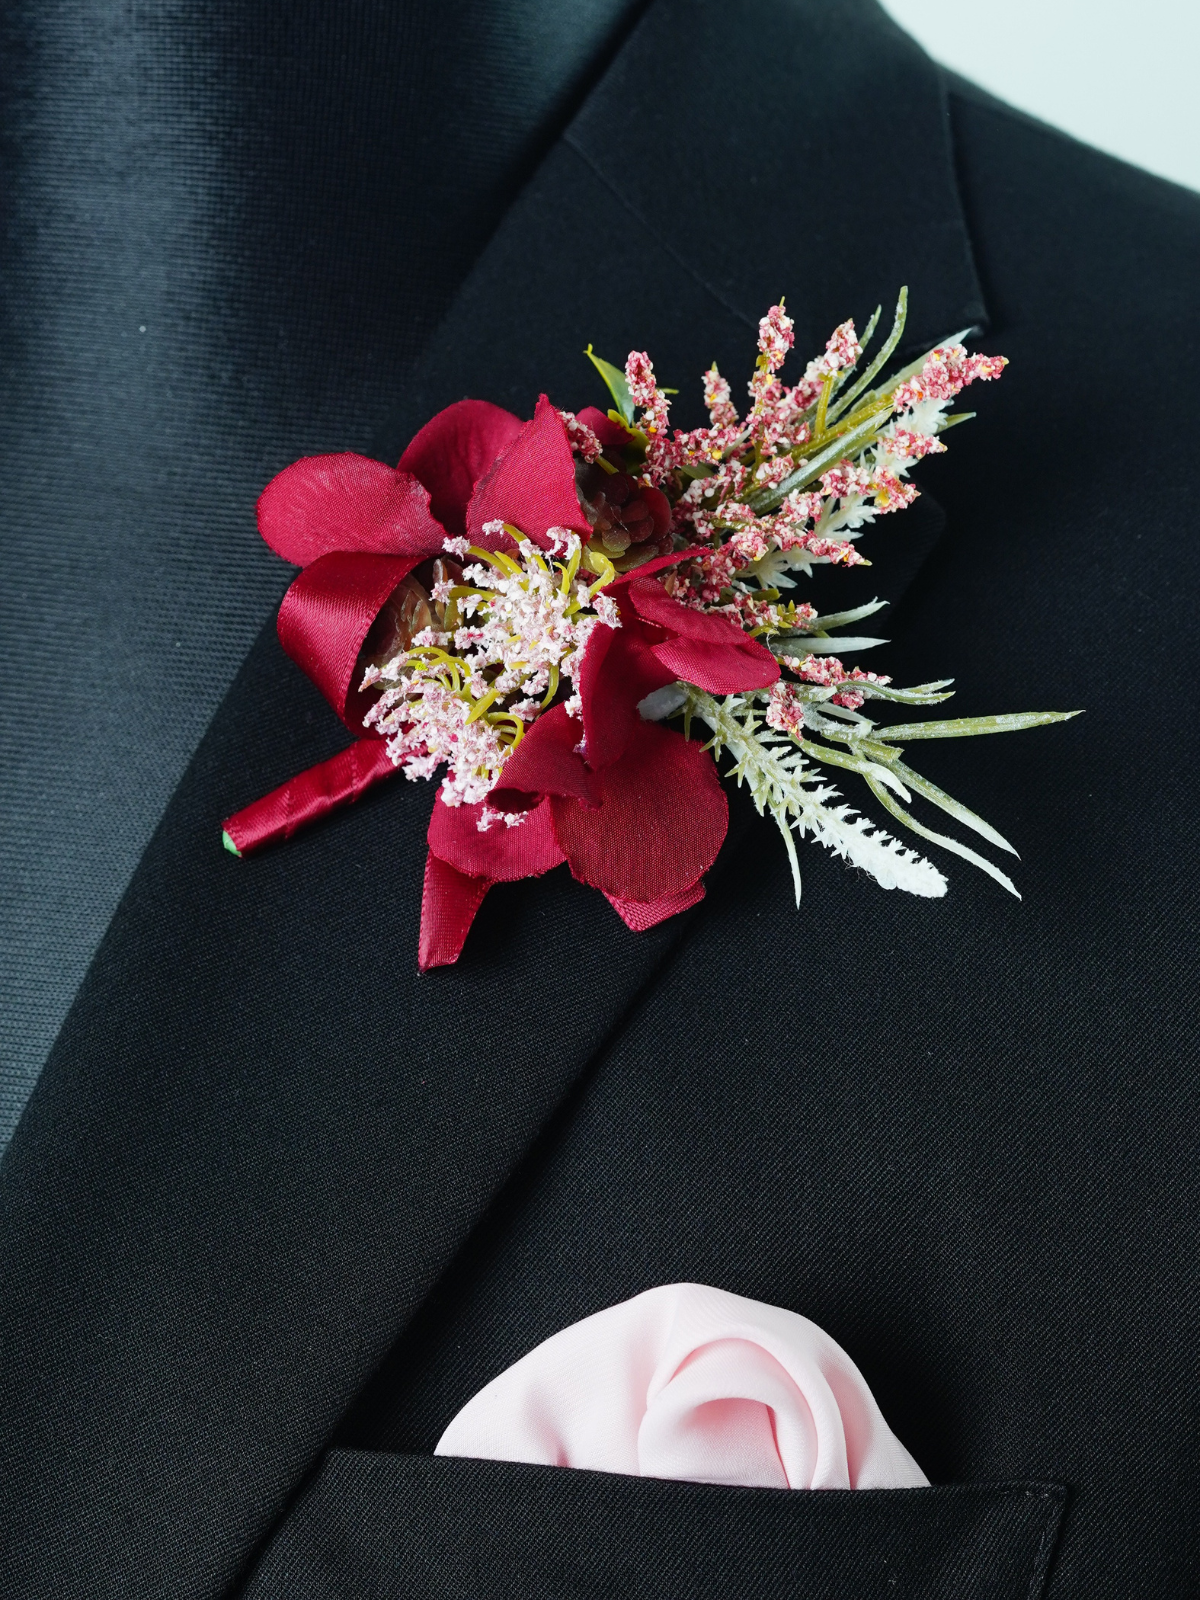
<svg viewBox="0 0 1200 1600">
<path fill-rule="evenodd" d="M 787 298 L 797 350 L 909 285 L 904 347 L 987 314 L 954 178 L 944 86 L 874 0 L 656 0 L 509 210 L 381 445 L 485 395 L 528 414 L 603 402 L 581 358 L 648 349 L 698 416 Z"/>
</svg>

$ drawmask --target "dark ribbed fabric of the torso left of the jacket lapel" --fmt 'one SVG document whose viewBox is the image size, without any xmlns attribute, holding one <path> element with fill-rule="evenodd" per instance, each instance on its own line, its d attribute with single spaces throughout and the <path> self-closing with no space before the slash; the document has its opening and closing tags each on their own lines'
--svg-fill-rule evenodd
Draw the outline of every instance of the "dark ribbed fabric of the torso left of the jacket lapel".
<svg viewBox="0 0 1200 1600">
<path fill-rule="evenodd" d="M 286 570 L 640 0 L 0 14 L 0 1149 Z M 403 442 L 402 442 L 403 443 Z"/>
</svg>

